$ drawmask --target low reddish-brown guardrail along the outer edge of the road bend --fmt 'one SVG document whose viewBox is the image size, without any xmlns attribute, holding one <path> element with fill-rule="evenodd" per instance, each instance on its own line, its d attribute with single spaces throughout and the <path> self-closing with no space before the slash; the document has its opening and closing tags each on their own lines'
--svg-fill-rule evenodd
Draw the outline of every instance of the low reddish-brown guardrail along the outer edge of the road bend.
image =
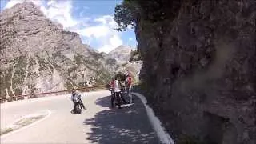
<svg viewBox="0 0 256 144">
<path fill-rule="evenodd" d="M 78 88 L 75 90 L 82 90 L 83 92 L 89 92 L 90 90 L 95 90 L 97 88 L 106 89 L 106 85 L 87 86 L 87 87 L 82 87 L 82 88 Z M 61 93 L 66 93 L 66 92 L 71 92 L 71 91 L 72 90 L 59 90 L 59 91 L 52 91 L 52 92 L 45 92 L 45 93 L 38 93 L 38 94 L 17 95 L 14 97 L 0 98 L 0 103 L 18 101 L 18 100 L 22 100 L 22 99 L 26 99 L 26 98 L 46 97 L 46 95 L 49 95 L 49 94 L 61 94 Z"/>
</svg>

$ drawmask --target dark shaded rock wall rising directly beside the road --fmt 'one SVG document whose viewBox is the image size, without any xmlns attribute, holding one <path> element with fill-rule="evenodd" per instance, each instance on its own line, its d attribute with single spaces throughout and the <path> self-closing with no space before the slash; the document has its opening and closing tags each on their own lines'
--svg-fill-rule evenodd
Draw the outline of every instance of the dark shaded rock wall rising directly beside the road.
<svg viewBox="0 0 256 144">
<path fill-rule="evenodd" d="M 141 78 L 172 137 L 256 143 L 255 1 L 154 2 L 138 2 Z"/>
</svg>

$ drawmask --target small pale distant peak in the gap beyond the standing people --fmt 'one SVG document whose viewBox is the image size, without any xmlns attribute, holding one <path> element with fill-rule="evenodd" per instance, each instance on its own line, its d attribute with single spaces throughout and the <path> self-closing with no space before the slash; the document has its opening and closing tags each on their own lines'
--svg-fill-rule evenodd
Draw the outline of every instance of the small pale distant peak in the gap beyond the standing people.
<svg viewBox="0 0 256 144">
<path fill-rule="evenodd" d="M 131 50 L 132 47 L 122 45 L 110 51 L 108 55 L 110 58 L 114 58 L 118 64 L 122 65 L 126 62 L 129 62 Z"/>
</svg>

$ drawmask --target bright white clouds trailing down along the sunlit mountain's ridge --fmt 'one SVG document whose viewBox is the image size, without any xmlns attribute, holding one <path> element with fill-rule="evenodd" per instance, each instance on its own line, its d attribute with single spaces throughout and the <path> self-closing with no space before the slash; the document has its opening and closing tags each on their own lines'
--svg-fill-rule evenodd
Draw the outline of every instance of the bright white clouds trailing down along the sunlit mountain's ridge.
<svg viewBox="0 0 256 144">
<path fill-rule="evenodd" d="M 74 9 L 72 1 L 40 1 L 40 0 L 10 0 L 5 8 L 10 8 L 17 3 L 24 1 L 32 1 L 35 5 L 40 7 L 40 10 L 54 22 L 62 24 L 65 30 L 77 32 L 81 35 L 82 42 L 86 44 L 92 41 L 98 43 L 98 51 L 110 52 L 117 46 L 122 45 L 122 38 L 120 33 L 114 28 L 118 27 L 112 15 L 102 15 L 98 18 L 90 18 L 83 16 L 81 18 L 74 18 L 72 10 Z M 89 9 L 86 7 L 85 10 Z M 84 11 L 78 15 L 86 15 Z"/>
</svg>

